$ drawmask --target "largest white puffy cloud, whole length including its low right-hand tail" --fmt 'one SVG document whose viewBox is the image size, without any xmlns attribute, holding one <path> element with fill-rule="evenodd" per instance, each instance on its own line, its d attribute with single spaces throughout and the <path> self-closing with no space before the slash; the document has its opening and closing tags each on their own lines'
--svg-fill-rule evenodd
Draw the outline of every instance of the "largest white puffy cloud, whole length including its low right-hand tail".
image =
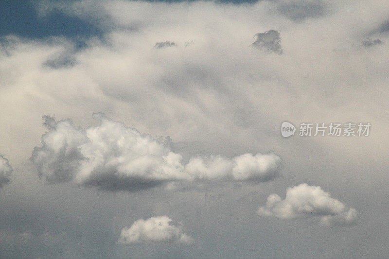
<svg viewBox="0 0 389 259">
<path fill-rule="evenodd" d="M 184 165 L 169 137 L 141 134 L 100 113 L 93 117 L 100 125 L 80 129 L 70 119 L 43 116 L 48 132 L 31 157 L 41 177 L 49 183 L 74 180 L 104 190 L 135 191 L 179 181 L 267 181 L 282 169 L 281 158 L 272 152 L 195 157 Z"/>
</svg>

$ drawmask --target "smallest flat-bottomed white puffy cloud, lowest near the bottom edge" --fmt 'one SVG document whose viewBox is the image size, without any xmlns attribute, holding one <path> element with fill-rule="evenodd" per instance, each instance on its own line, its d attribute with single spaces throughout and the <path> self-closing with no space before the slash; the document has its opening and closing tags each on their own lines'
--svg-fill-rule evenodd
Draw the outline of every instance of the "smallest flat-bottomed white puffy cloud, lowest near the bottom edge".
<svg viewBox="0 0 389 259">
<path fill-rule="evenodd" d="M 139 243 L 139 242 L 178 242 L 189 243 L 193 239 L 183 233 L 179 226 L 171 224 L 172 220 L 168 216 L 151 217 L 149 219 L 137 220 L 130 227 L 122 229 L 119 243 Z"/>
</svg>

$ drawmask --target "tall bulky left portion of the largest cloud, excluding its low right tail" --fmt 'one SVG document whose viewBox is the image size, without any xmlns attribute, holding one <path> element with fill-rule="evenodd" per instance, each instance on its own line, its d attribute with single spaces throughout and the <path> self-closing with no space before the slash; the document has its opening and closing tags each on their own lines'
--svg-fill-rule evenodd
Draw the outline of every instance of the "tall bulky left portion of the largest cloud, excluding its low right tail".
<svg viewBox="0 0 389 259">
<path fill-rule="evenodd" d="M 44 116 L 48 132 L 31 160 L 49 183 L 75 180 L 102 189 L 137 190 L 169 180 L 190 179 L 172 152 L 170 138 L 153 138 L 123 123 L 94 114 L 97 127 Z"/>
</svg>

